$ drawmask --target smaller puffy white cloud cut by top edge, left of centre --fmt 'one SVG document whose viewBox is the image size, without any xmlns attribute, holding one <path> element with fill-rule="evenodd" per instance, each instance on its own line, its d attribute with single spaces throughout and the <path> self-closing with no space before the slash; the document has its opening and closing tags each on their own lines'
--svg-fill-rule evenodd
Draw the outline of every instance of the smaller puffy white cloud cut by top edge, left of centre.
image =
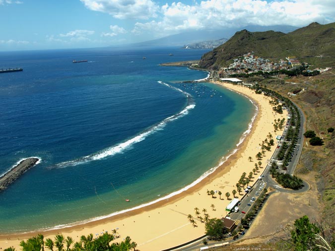
<svg viewBox="0 0 335 251">
<path fill-rule="evenodd" d="M 88 9 L 105 12 L 118 19 L 157 17 L 159 6 L 152 0 L 80 0 Z"/>
</svg>

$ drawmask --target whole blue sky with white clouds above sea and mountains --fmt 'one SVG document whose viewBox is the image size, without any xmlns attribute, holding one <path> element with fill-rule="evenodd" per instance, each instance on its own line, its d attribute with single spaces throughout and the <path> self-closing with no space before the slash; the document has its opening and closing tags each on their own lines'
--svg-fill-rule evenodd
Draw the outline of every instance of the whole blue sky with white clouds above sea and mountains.
<svg viewBox="0 0 335 251">
<path fill-rule="evenodd" d="M 0 51 L 118 46 L 192 30 L 312 22 L 335 22 L 334 0 L 0 0 Z"/>
</svg>

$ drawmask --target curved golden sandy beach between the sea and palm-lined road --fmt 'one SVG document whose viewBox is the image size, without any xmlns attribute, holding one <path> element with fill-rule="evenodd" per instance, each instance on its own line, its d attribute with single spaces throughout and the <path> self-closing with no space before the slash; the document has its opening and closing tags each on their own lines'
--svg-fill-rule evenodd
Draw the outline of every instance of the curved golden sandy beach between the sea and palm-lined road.
<svg viewBox="0 0 335 251">
<path fill-rule="evenodd" d="M 273 139 L 276 135 L 282 134 L 282 131 L 274 132 L 273 121 L 278 118 L 285 118 L 286 120 L 287 112 L 284 110 L 283 114 L 276 114 L 269 104 L 269 97 L 255 94 L 247 87 L 230 83 L 218 84 L 222 84 L 226 88 L 237 91 L 253 100 L 258 107 L 258 115 L 250 134 L 239 145 L 238 151 L 222 164 L 215 173 L 195 187 L 173 198 L 108 219 L 43 232 L 44 238 L 54 239 L 56 234 L 62 233 L 64 236 L 71 236 L 74 241 L 78 241 L 82 235 L 87 236 L 92 233 L 94 237 L 97 237 L 103 232 L 112 233 L 112 229 L 117 229 L 117 233 L 121 237 L 116 241 L 122 241 L 126 236 L 130 236 L 132 241 L 137 244 L 136 249 L 140 251 L 159 251 L 181 245 L 204 235 L 204 223 L 197 219 L 194 208 L 198 207 L 202 216 L 203 209 L 206 210 L 210 218 L 226 216 L 225 207 L 233 198 L 232 190 L 236 189 L 236 183 L 243 172 L 248 175 L 255 168 L 255 163 L 258 163 L 256 154 L 261 152 L 260 144 L 267 138 L 268 134 L 271 133 Z M 266 151 L 261 160 L 262 168 L 254 175 L 249 186 L 257 181 L 275 148 L 276 141 L 275 145 L 271 147 L 271 151 Z M 252 157 L 252 162 L 249 161 L 249 156 Z M 221 199 L 218 193 L 215 193 L 213 198 L 211 195 L 207 195 L 207 190 L 221 191 Z M 229 200 L 225 196 L 226 192 L 231 194 Z M 242 198 L 243 195 L 244 192 L 241 192 L 240 195 L 236 193 L 235 197 Z M 189 214 L 193 215 L 197 227 L 190 223 Z M 0 235 L 0 247 L 2 249 L 14 247 L 16 250 L 21 250 L 19 242 L 37 234 Z"/>
</svg>

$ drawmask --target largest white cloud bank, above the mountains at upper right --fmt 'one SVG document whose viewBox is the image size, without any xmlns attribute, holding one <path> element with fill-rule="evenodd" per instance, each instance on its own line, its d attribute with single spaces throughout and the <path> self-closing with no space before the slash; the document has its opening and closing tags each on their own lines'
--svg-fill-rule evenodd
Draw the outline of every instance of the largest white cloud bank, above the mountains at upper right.
<svg viewBox="0 0 335 251">
<path fill-rule="evenodd" d="M 133 33 L 155 31 L 169 35 L 190 29 L 254 25 L 305 26 L 335 21 L 334 0 L 203 0 L 193 5 L 173 2 L 161 6 L 160 20 L 137 22 Z"/>
</svg>

